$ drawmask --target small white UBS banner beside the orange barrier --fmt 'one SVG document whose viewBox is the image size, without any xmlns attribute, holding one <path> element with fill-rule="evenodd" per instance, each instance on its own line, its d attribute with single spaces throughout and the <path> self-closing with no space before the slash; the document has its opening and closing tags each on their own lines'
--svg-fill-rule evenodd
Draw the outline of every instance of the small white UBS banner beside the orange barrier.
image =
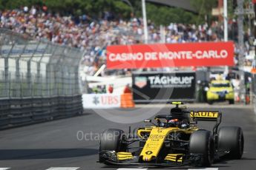
<svg viewBox="0 0 256 170">
<path fill-rule="evenodd" d="M 82 95 L 82 105 L 85 109 L 120 107 L 120 96 L 114 94 L 84 94 Z"/>
</svg>

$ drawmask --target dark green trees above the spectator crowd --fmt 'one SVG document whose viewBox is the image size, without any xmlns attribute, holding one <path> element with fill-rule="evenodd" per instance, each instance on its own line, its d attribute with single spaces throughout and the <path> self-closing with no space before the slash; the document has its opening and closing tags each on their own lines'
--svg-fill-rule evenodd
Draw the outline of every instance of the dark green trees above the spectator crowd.
<svg viewBox="0 0 256 170">
<path fill-rule="evenodd" d="M 0 9 L 16 9 L 24 6 L 46 5 L 48 10 L 54 13 L 60 13 L 61 15 L 73 14 L 80 16 L 85 13 L 93 18 L 100 18 L 106 11 L 111 11 L 116 18 L 121 17 L 129 19 L 131 12 L 134 12 L 134 16 L 141 17 L 141 1 L 129 1 L 132 7 L 127 1 L 125 3 L 125 0 L 0 0 Z M 157 25 L 167 25 L 171 22 L 200 24 L 205 15 L 210 15 L 211 7 L 216 4 L 216 1 L 217 0 L 192 0 L 192 4 L 194 4 L 197 11 L 200 13 L 199 16 L 181 8 L 167 7 L 147 2 L 147 16 L 148 20 L 151 20 Z"/>
</svg>

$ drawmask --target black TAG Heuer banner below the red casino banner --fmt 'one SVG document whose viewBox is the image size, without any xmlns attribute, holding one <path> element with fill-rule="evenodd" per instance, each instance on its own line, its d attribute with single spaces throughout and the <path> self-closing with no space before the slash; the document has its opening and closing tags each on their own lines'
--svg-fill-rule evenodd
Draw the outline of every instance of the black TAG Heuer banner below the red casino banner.
<svg viewBox="0 0 256 170">
<path fill-rule="evenodd" d="M 195 72 L 137 72 L 132 75 L 135 102 L 194 101 Z"/>
</svg>

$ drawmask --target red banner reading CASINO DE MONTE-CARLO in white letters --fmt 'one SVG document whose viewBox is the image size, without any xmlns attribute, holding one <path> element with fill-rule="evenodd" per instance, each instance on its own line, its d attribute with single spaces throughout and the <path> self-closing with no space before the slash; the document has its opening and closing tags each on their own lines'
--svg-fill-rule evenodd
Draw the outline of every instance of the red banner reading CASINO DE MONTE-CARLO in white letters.
<svg viewBox="0 0 256 170">
<path fill-rule="evenodd" d="M 107 47 L 108 69 L 234 65 L 234 43 L 134 44 Z"/>
</svg>

